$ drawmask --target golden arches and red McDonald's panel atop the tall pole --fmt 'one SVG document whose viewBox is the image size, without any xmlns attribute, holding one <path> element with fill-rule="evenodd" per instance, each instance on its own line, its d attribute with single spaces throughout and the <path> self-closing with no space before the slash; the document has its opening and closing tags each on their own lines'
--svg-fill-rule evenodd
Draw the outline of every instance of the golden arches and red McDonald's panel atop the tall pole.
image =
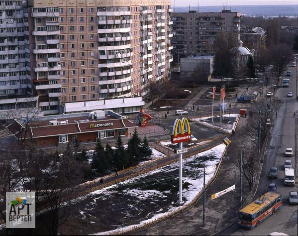
<svg viewBox="0 0 298 236">
<path fill-rule="evenodd" d="M 191 127 L 187 118 L 177 118 L 173 124 L 171 141 L 172 143 L 180 143 L 191 140 Z"/>
</svg>

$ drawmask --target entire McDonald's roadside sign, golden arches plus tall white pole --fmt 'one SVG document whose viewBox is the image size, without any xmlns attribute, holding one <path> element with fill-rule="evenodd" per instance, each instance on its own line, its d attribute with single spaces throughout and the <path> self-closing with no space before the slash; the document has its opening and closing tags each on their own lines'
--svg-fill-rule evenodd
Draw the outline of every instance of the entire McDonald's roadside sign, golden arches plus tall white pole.
<svg viewBox="0 0 298 236">
<path fill-rule="evenodd" d="M 183 153 L 187 152 L 187 148 L 183 148 L 183 142 L 191 140 L 191 128 L 187 118 L 176 119 L 173 124 L 171 141 L 172 143 L 179 143 L 179 149 L 175 153 L 179 155 L 179 203 L 182 204 L 182 173 L 183 173 Z"/>
</svg>

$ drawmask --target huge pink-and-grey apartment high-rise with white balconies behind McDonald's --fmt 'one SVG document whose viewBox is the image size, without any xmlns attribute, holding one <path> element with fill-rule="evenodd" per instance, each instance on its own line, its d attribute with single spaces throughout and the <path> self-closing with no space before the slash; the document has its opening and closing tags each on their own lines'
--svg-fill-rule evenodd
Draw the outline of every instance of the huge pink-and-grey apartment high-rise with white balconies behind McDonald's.
<svg viewBox="0 0 298 236">
<path fill-rule="evenodd" d="M 170 0 L 0 2 L 0 95 L 37 96 L 45 115 L 67 103 L 144 96 L 168 75 Z"/>
</svg>

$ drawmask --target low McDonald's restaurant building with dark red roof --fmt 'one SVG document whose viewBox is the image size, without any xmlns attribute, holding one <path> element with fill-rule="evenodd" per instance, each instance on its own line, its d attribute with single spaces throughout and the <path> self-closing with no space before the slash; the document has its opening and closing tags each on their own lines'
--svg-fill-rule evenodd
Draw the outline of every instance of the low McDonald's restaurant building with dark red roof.
<svg viewBox="0 0 298 236">
<path fill-rule="evenodd" d="M 135 123 L 113 111 L 94 111 L 28 119 L 15 119 L 6 128 L 16 139 L 37 147 L 54 147 L 71 142 L 96 142 L 100 139 L 128 137 L 137 127 Z"/>
</svg>

